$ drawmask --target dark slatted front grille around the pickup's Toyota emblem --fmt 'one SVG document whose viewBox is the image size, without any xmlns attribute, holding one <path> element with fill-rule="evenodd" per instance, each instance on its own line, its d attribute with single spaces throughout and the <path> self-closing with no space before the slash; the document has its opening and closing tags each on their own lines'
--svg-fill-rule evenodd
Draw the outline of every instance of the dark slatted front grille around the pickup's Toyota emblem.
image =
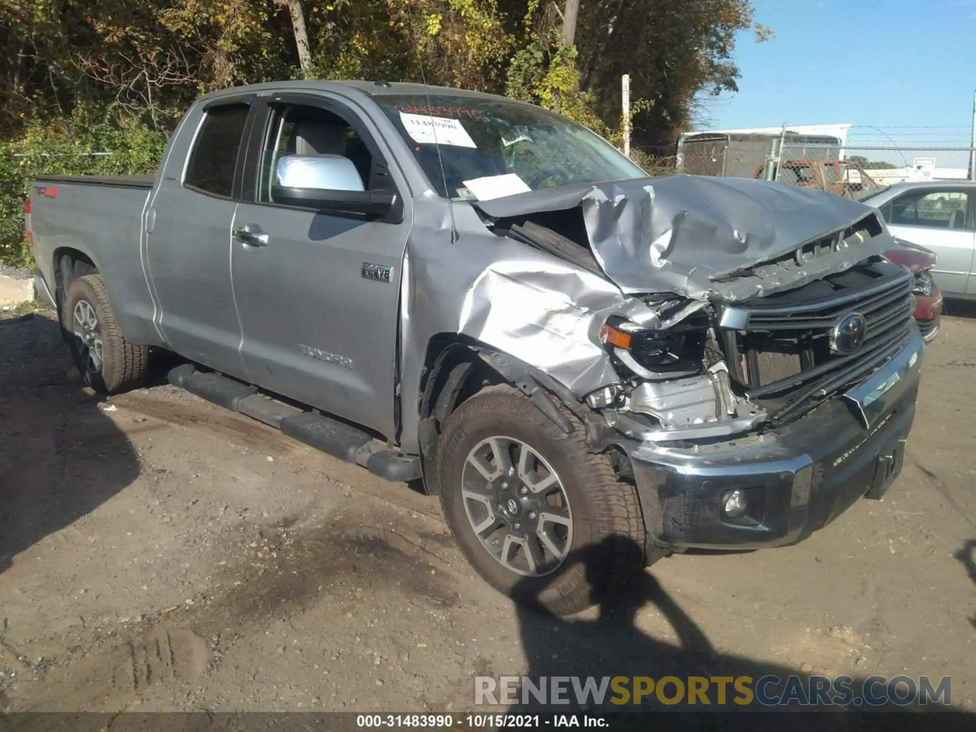
<svg viewBox="0 0 976 732">
<path fill-rule="evenodd" d="M 729 372 L 750 398 L 778 399 L 781 406 L 811 386 L 845 386 L 844 374 L 860 378 L 861 366 L 884 356 L 913 327 L 912 287 L 908 271 L 879 262 L 725 307 L 716 334 Z M 841 355 L 831 347 L 831 331 L 850 313 L 864 315 L 867 331 L 856 352 Z"/>
</svg>

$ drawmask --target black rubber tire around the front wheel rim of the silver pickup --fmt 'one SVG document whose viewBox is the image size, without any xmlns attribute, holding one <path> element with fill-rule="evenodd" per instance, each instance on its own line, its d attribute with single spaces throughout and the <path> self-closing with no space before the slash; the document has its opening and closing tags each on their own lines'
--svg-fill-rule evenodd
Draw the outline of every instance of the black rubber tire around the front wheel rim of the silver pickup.
<svg viewBox="0 0 976 732">
<path fill-rule="evenodd" d="M 522 605 L 571 615 L 619 590 L 643 567 L 644 524 L 634 487 L 618 478 L 608 454 L 587 451 L 584 426 L 558 408 L 574 427 L 570 434 L 510 386 L 490 386 L 464 402 L 444 426 L 440 499 L 455 540 L 482 578 Z M 518 574 L 504 566 L 468 520 L 463 470 L 470 451 L 492 436 L 528 445 L 557 473 L 568 499 L 571 547 L 549 574 Z"/>
</svg>

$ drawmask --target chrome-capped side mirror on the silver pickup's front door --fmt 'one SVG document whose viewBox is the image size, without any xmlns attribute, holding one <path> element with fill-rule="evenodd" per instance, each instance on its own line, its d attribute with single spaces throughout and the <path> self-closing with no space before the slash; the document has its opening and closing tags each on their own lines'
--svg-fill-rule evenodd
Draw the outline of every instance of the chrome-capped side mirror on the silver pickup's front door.
<svg viewBox="0 0 976 732">
<path fill-rule="evenodd" d="M 278 159 L 271 199 L 337 214 L 385 217 L 396 193 L 364 190 L 352 161 L 342 155 L 284 155 Z"/>
</svg>

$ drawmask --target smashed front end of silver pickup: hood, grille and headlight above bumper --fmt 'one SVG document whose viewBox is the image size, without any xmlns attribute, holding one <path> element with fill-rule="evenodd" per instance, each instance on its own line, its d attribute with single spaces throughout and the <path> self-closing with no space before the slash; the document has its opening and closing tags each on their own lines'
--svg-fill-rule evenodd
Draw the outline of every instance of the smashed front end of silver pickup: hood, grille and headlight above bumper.
<svg viewBox="0 0 976 732">
<path fill-rule="evenodd" d="M 890 236 L 860 204 L 692 177 L 556 190 L 478 208 L 496 233 L 625 293 L 626 307 L 592 313 L 604 358 L 587 371 L 603 383 L 564 383 L 631 440 L 786 425 L 912 338 L 911 276 L 880 256 Z"/>
</svg>

